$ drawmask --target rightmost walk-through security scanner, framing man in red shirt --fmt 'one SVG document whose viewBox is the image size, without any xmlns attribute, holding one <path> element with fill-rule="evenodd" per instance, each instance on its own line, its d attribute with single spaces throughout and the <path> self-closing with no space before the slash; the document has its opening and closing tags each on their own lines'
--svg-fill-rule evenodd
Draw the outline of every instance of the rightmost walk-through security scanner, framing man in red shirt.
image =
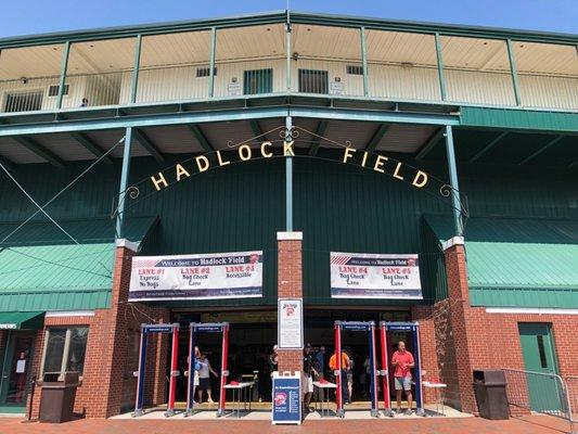
<svg viewBox="0 0 578 434">
<path fill-rule="evenodd" d="M 418 322 L 380 322 L 382 345 L 382 382 L 384 390 L 385 416 L 394 416 L 389 398 L 389 358 L 387 355 L 387 332 L 411 332 L 412 354 L 415 362 L 413 381 L 415 383 L 415 414 L 425 416 L 423 407 L 422 357 L 420 350 L 420 324 Z M 385 374 L 383 374 L 385 371 Z"/>
</svg>

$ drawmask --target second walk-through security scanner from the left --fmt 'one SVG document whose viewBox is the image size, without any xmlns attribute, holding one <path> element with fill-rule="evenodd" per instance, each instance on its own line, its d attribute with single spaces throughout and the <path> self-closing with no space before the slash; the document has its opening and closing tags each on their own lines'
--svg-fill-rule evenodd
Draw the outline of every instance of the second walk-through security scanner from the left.
<svg viewBox="0 0 578 434">
<path fill-rule="evenodd" d="M 227 384 L 227 378 L 229 376 L 229 371 L 227 370 L 227 359 L 229 358 L 229 322 L 191 322 L 189 324 L 189 367 L 188 367 L 188 379 L 187 379 L 187 410 L 184 416 L 191 416 L 194 412 L 194 394 L 195 394 L 195 384 L 194 384 L 194 366 L 195 366 L 195 346 L 196 346 L 196 334 L 197 333 L 222 333 L 222 344 L 221 344 L 221 375 L 220 375 L 220 387 L 219 387 L 219 408 L 217 410 L 217 416 L 224 414 L 226 406 L 226 391 L 224 385 Z"/>
</svg>

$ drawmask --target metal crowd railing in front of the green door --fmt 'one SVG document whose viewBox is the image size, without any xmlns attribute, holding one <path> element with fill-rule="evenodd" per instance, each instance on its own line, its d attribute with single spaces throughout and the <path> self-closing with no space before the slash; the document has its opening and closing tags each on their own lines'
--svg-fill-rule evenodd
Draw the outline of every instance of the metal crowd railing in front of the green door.
<svg viewBox="0 0 578 434">
<path fill-rule="evenodd" d="M 575 433 L 571 399 L 562 376 L 521 369 L 502 370 L 508 383 L 508 404 L 511 407 L 565 419 Z"/>
</svg>

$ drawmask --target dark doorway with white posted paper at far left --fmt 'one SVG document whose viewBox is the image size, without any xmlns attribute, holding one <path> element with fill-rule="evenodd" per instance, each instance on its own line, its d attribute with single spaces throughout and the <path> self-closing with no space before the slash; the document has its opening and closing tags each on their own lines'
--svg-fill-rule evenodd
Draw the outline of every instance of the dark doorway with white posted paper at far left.
<svg viewBox="0 0 578 434">
<path fill-rule="evenodd" d="M 8 332 L 2 363 L 0 412 L 24 412 L 36 332 Z"/>
</svg>

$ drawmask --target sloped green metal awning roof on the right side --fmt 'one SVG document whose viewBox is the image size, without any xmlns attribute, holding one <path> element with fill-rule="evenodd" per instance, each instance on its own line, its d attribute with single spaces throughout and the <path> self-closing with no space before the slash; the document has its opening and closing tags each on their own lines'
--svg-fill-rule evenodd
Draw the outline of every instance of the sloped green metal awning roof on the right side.
<svg viewBox="0 0 578 434">
<path fill-rule="evenodd" d="M 450 219 L 426 220 L 451 237 Z M 578 308 L 578 221 L 471 218 L 465 247 L 473 306 Z"/>
</svg>

